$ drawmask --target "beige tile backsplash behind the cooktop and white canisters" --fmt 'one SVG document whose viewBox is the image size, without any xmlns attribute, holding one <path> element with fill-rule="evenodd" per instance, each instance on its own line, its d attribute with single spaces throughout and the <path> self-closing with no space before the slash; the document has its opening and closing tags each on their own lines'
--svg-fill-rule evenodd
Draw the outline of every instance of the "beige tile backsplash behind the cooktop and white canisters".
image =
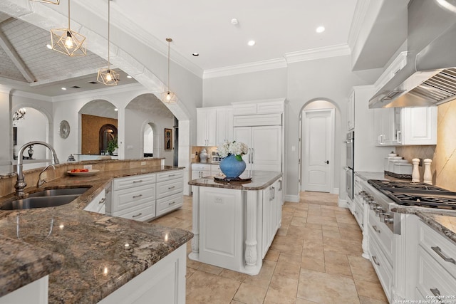
<svg viewBox="0 0 456 304">
<path fill-rule="evenodd" d="M 413 158 L 432 159 L 432 183 L 456 191 L 456 100 L 437 107 L 437 145 L 396 147 L 396 152 Z M 423 181 L 424 167 L 420 167 Z"/>
</svg>

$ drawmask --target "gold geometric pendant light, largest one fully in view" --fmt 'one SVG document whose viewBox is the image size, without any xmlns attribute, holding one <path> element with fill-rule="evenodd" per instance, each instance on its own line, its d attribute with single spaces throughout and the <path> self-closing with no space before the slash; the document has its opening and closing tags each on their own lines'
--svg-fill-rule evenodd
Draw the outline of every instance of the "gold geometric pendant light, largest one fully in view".
<svg viewBox="0 0 456 304">
<path fill-rule="evenodd" d="M 51 28 L 52 49 L 68 56 L 86 56 L 86 37 L 70 28 L 70 0 L 68 0 L 68 28 Z"/>
</svg>

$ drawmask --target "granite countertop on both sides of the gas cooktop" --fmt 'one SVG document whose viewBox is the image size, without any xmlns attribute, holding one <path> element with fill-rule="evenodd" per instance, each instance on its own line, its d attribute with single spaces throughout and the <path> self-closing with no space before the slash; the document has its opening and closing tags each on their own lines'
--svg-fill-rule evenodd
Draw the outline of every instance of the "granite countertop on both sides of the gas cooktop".
<svg viewBox="0 0 456 304">
<path fill-rule="evenodd" d="M 387 177 L 383 172 L 356 172 L 356 174 L 367 181 L 368 179 L 393 179 Z M 394 179 L 400 180 L 400 179 Z M 410 182 L 410 181 L 408 181 Z M 428 226 L 448 239 L 456 243 L 456 211 L 447 209 L 430 209 L 420 206 L 397 205 L 391 209 L 393 212 L 402 214 L 415 214 L 422 219 Z"/>
</svg>

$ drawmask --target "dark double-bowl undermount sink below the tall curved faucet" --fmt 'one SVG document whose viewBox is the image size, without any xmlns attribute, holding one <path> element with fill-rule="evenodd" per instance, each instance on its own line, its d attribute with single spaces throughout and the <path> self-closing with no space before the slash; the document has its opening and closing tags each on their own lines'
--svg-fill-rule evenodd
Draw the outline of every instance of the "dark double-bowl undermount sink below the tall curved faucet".
<svg viewBox="0 0 456 304">
<path fill-rule="evenodd" d="M 30 194 L 25 199 L 6 201 L 1 210 L 33 209 L 62 206 L 70 203 L 90 187 L 48 189 Z"/>
</svg>

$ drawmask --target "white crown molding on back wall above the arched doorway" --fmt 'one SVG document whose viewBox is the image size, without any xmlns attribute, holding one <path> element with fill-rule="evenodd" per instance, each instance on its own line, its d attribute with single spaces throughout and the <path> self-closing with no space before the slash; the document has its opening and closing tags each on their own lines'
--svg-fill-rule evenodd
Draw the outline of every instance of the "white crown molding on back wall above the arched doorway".
<svg viewBox="0 0 456 304">
<path fill-rule="evenodd" d="M 337 56 L 350 55 L 351 51 L 348 44 L 339 44 L 337 46 L 326 46 L 323 48 L 312 48 L 311 50 L 286 53 L 287 63 L 296 63 L 300 61 L 311 61 L 321 58 L 331 58 Z"/>
</svg>

